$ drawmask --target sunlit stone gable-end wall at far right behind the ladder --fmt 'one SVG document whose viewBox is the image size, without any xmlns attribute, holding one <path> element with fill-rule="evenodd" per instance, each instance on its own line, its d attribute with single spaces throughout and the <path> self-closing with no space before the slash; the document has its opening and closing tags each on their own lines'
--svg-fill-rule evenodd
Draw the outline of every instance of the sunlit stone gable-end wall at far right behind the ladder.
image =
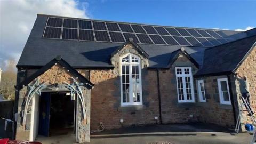
<svg viewBox="0 0 256 144">
<path fill-rule="evenodd" d="M 251 106 L 256 111 L 256 47 L 253 48 L 251 53 L 247 56 L 247 58 L 243 61 L 242 65 L 238 67 L 236 73 L 241 76 L 246 76 L 249 84 L 249 92 L 250 92 L 250 100 Z M 240 104 L 242 101 L 239 99 L 241 96 L 241 92 L 239 89 L 239 82 L 236 80 L 236 94 L 238 97 L 238 103 Z M 247 116 L 247 112 L 244 111 L 242 117 L 242 123 L 252 123 L 250 117 Z M 244 125 L 242 125 L 244 128 Z M 244 129 L 242 129 L 244 130 Z"/>
</svg>

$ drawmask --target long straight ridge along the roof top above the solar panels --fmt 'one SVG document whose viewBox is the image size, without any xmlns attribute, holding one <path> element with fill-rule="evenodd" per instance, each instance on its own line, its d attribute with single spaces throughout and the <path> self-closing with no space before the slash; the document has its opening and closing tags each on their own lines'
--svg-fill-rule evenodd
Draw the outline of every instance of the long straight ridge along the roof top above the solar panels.
<svg viewBox="0 0 256 144">
<path fill-rule="evenodd" d="M 179 26 L 153 25 L 153 24 L 146 24 L 146 23 L 134 23 L 134 22 L 122 22 L 122 21 L 110 21 L 110 20 L 99 20 L 99 19 L 76 18 L 76 17 L 67 17 L 67 16 L 60 16 L 60 15 L 39 14 L 39 13 L 37 15 L 44 15 L 44 16 L 48 16 L 48 17 L 80 19 L 80 20 L 92 20 L 92 21 L 101 21 L 101 22 L 116 22 L 116 23 L 132 24 L 132 25 L 143 25 L 143 26 L 187 28 L 187 29 L 203 29 L 203 30 L 233 31 L 233 32 L 236 31 L 236 30 L 210 29 L 210 28 L 198 28 L 198 27 L 179 27 Z M 236 32 L 238 34 L 238 33 L 244 33 L 245 31 L 236 31 Z"/>
</svg>

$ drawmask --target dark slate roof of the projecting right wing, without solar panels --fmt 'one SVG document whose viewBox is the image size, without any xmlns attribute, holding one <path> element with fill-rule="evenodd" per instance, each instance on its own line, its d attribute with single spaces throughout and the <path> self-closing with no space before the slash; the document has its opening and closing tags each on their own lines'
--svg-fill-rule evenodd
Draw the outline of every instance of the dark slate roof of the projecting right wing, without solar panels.
<svg viewBox="0 0 256 144">
<path fill-rule="evenodd" d="M 256 46 L 256 35 L 232 43 L 211 47 L 204 52 L 203 67 L 196 76 L 234 73 L 243 58 Z"/>
</svg>

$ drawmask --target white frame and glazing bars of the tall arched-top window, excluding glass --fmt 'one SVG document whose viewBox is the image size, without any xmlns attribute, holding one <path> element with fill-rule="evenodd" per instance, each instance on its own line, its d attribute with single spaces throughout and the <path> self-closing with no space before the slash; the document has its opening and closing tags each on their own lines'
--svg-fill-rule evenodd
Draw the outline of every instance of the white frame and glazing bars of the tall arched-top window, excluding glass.
<svg viewBox="0 0 256 144">
<path fill-rule="evenodd" d="M 128 62 L 122 62 L 122 59 L 129 56 L 129 61 Z M 132 57 L 137 58 L 138 62 L 132 62 Z M 123 102 L 123 79 L 122 79 L 122 65 L 128 65 L 129 66 L 129 101 L 130 102 Z M 140 102 L 133 102 L 133 86 L 132 86 L 132 66 L 138 65 L 139 67 L 139 92 L 140 92 Z M 120 87 L 121 87 L 121 106 L 131 106 L 131 105 L 142 105 L 142 84 L 141 84 L 141 63 L 140 63 L 140 58 L 137 55 L 128 53 L 125 55 L 122 55 L 120 57 L 120 62 L 119 62 L 119 69 L 120 69 Z"/>
</svg>

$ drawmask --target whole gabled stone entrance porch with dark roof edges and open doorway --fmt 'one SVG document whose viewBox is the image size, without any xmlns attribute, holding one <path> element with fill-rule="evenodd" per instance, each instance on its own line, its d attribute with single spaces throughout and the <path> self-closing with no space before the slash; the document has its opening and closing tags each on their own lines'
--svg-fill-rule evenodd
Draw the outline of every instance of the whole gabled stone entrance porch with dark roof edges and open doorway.
<svg viewBox="0 0 256 144">
<path fill-rule="evenodd" d="M 62 119 L 72 123 L 76 142 L 89 142 L 92 87 L 60 57 L 25 78 L 15 86 L 16 139 L 34 140 L 38 132 L 49 135 L 50 126 L 60 125 Z M 53 117 L 55 124 L 51 124 Z"/>
</svg>

